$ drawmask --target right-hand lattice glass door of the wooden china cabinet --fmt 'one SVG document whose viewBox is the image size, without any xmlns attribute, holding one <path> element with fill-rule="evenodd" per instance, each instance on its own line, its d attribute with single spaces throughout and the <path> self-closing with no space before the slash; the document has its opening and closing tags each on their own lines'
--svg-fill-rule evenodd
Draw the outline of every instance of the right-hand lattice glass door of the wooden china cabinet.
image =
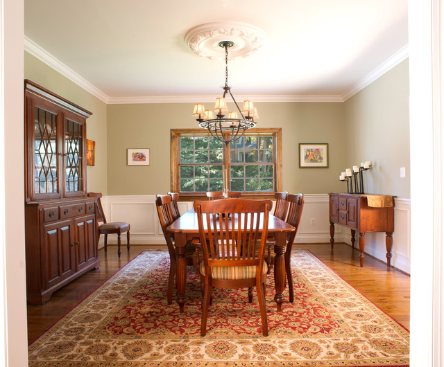
<svg viewBox="0 0 444 367">
<path fill-rule="evenodd" d="M 65 193 L 83 191 L 83 124 L 65 118 Z"/>
</svg>

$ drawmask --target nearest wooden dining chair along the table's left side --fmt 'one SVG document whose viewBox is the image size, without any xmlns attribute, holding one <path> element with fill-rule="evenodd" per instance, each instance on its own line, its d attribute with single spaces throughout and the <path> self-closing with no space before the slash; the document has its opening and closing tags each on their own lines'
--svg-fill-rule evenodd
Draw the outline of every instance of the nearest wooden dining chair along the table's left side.
<svg viewBox="0 0 444 367">
<path fill-rule="evenodd" d="M 173 288 L 174 288 L 174 278 L 176 276 L 176 247 L 174 247 L 174 237 L 170 235 L 167 231 L 168 226 L 175 221 L 173 214 L 173 206 L 171 205 L 172 199 L 170 195 L 157 195 L 155 199 L 155 204 L 157 207 L 157 215 L 159 216 L 160 226 L 162 227 L 162 232 L 164 233 L 165 241 L 167 241 L 167 248 L 169 252 L 169 277 L 168 277 L 168 292 L 167 292 L 167 302 L 169 305 L 173 303 Z M 188 243 L 185 249 L 185 259 L 187 265 L 194 265 L 198 267 L 198 262 L 196 260 L 196 245 Z"/>
</svg>

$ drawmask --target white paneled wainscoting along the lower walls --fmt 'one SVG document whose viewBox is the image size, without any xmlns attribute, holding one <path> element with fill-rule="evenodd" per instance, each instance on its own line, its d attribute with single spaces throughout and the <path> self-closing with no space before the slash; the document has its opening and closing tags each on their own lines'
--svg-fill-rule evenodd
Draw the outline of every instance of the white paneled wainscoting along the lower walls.
<svg viewBox="0 0 444 367">
<path fill-rule="evenodd" d="M 327 194 L 305 194 L 304 211 L 295 242 L 330 242 L 330 222 Z M 180 213 L 193 207 L 192 202 L 179 202 Z M 106 196 L 102 198 L 103 211 L 108 222 L 128 222 L 131 225 L 131 244 L 165 244 L 155 206 L 155 195 Z M 348 229 L 335 225 L 335 242 L 351 244 Z M 122 236 L 126 244 L 126 236 Z M 108 236 L 109 244 L 117 244 L 117 236 Z M 355 244 L 357 246 L 357 244 Z M 103 236 L 99 242 L 103 247 Z M 386 260 L 385 233 L 366 233 L 366 253 Z M 410 200 L 395 199 L 395 232 L 391 265 L 410 273 Z"/>
</svg>

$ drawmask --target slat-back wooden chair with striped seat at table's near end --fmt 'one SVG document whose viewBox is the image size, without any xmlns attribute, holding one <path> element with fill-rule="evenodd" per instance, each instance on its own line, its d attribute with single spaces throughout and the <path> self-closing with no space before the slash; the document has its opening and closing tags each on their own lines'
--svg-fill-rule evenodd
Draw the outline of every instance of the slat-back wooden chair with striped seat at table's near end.
<svg viewBox="0 0 444 367">
<path fill-rule="evenodd" d="M 267 274 L 265 243 L 271 200 L 230 199 L 194 202 L 198 217 L 203 261 L 199 270 L 204 285 L 200 335 L 207 333 L 207 316 L 213 287 L 256 287 L 262 334 L 268 335 L 265 305 Z M 261 215 L 262 213 L 262 215 Z M 237 225 L 239 224 L 239 225 Z M 259 233 L 262 229 L 262 233 Z"/>
</svg>

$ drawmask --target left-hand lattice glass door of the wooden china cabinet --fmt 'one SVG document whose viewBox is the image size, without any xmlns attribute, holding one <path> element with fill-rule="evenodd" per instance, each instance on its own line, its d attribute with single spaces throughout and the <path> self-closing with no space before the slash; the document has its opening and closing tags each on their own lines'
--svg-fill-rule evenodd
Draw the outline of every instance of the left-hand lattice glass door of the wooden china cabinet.
<svg viewBox="0 0 444 367">
<path fill-rule="evenodd" d="M 58 193 L 57 114 L 34 107 L 33 186 L 35 195 Z"/>
</svg>

